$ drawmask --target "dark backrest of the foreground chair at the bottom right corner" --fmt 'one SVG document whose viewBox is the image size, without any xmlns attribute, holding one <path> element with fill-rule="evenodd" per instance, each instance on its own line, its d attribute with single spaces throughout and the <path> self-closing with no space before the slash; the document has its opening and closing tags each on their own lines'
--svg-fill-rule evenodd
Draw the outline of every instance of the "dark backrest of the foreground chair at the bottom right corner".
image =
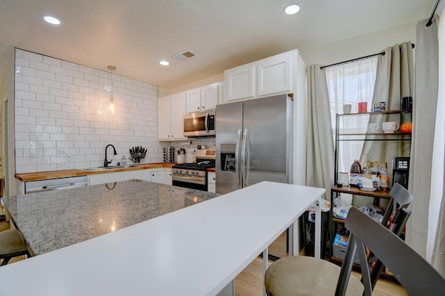
<svg viewBox="0 0 445 296">
<path fill-rule="evenodd" d="M 365 245 L 387 265 L 410 295 L 444 295 L 445 279 L 439 272 L 382 224 L 352 207 L 346 217 L 345 226 L 350 231 L 350 238 L 335 295 L 344 295 L 346 292 L 356 249 L 360 262 L 366 262 Z M 369 265 L 361 266 L 364 294 L 372 295 Z"/>
</svg>

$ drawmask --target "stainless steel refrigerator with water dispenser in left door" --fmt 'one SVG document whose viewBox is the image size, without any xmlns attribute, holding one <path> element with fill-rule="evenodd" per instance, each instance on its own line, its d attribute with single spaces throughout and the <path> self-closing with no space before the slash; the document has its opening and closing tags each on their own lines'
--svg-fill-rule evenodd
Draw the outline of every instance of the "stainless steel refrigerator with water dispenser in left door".
<svg viewBox="0 0 445 296">
<path fill-rule="evenodd" d="M 216 106 L 216 192 L 292 183 L 292 147 L 293 101 L 286 94 Z M 271 255 L 286 255 L 283 236 L 282 247 L 269 247 Z"/>
</svg>

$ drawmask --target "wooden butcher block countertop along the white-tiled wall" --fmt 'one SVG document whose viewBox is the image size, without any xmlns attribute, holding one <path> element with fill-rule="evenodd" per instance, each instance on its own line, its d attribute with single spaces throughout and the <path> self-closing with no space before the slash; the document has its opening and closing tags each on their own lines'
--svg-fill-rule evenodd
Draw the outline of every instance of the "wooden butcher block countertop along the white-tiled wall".
<svg viewBox="0 0 445 296">
<path fill-rule="evenodd" d="M 33 172 L 25 174 L 15 174 L 15 178 L 22 182 L 40 181 L 58 178 L 69 178 L 70 176 L 86 176 L 89 174 L 106 174 L 111 172 L 124 172 L 131 170 L 147 170 L 147 169 L 159 169 L 168 168 L 171 169 L 175 163 L 144 163 L 140 165 L 113 167 L 108 170 L 60 170 L 49 172 Z"/>
</svg>

